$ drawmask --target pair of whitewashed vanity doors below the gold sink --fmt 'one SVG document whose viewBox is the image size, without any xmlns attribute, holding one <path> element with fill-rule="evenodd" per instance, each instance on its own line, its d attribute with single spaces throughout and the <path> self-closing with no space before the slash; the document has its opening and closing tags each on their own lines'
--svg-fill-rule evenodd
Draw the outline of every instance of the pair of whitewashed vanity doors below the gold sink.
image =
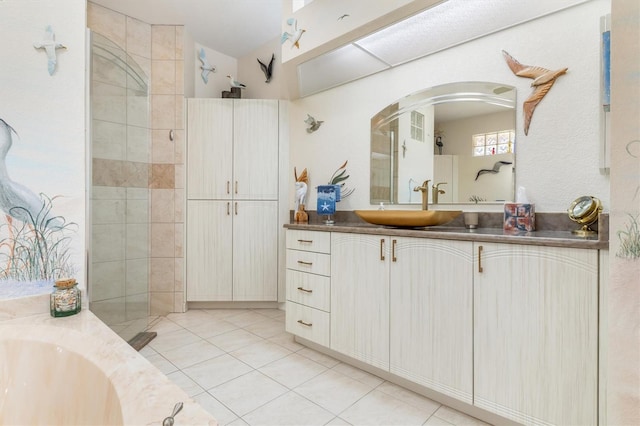
<svg viewBox="0 0 640 426">
<path fill-rule="evenodd" d="M 473 245 L 332 233 L 331 349 L 472 403 Z"/>
</svg>

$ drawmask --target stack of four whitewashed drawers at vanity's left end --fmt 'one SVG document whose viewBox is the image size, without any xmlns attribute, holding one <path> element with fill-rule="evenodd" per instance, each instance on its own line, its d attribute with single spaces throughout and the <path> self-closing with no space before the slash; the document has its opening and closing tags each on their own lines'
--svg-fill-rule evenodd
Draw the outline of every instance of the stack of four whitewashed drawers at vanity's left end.
<svg viewBox="0 0 640 426">
<path fill-rule="evenodd" d="M 286 245 L 286 330 L 329 346 L 331 234 L 289 230 Z"/>
</svg>

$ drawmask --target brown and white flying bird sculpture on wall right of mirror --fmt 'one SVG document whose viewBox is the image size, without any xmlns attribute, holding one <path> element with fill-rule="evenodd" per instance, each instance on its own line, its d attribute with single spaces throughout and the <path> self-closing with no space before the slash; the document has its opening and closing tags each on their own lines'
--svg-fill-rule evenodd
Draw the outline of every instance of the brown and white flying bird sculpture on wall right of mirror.
<svg viewBox="0 0 640 426">
<path fill-rule="evenodd" d="M 518 77 L 532 78 L 533 93 L 523 103 L 524 112 L 524 134 L 529 134 L 529 125 L 531 124 L 531 118 L 533 117 L 533 111 L 536 109 L 542 98 L 549 92 L 553 83 L 562 74 L 565 74 L 568 68 L 561 68 L 558 70 L 548 70 L 546 68 L 522 65 L 520 62 L 514 59 L 506 51 L 502 51 L 507 65 L 511 71 Z"/>
</svg>

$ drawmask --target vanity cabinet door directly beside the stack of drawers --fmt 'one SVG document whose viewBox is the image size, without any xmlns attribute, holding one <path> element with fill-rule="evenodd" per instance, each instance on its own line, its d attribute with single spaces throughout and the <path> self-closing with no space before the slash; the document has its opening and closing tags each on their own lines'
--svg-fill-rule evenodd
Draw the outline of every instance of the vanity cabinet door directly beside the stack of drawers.
<svg viewBox="0 0 640 426">
<path fill-rule="evenodd" d="M 331 349 L 389 369 L 389 239 L 331 234 Z"/>
</svg>

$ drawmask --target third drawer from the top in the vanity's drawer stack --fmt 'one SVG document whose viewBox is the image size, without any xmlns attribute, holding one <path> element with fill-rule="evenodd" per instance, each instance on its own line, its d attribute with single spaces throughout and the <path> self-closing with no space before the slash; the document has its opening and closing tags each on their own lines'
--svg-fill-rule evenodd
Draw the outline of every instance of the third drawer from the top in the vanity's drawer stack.
<svg viewBox="0 0 640 426">
<path fill-rule="evenodd" d="M 329 312 L 331 278 L 287 269 L 287 300 Z"/>
</svg>

